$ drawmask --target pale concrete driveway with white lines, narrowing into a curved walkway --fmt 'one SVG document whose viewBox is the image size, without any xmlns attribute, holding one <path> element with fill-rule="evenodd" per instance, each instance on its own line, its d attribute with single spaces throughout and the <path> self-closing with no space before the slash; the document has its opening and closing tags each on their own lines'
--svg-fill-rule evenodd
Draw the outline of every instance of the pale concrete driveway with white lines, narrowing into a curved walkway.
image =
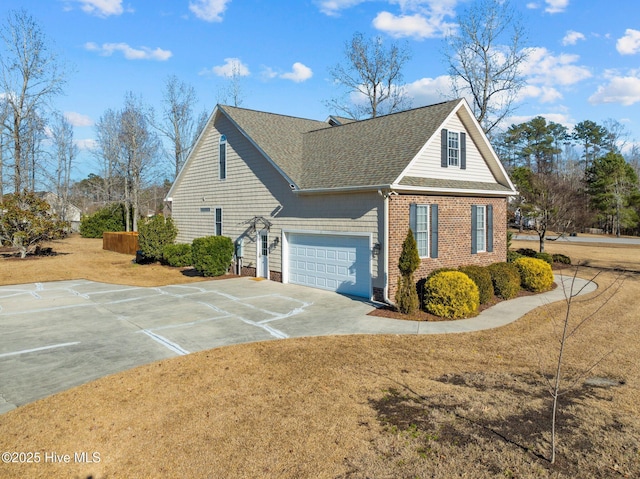
<svg viewBox="0 0 640 479">
<path fill-rule="evenodd" d="M 472 319 L 413 322 L 368 316 L 374 306 L 366 301 L 252 278 L 160 288 L 86 280 L 2 286 L 0 414 L 108 374 L 204 349 L 301 336 L 476 331 L 563 297 L 558 288 L 500 303 Z"/>
</svg>

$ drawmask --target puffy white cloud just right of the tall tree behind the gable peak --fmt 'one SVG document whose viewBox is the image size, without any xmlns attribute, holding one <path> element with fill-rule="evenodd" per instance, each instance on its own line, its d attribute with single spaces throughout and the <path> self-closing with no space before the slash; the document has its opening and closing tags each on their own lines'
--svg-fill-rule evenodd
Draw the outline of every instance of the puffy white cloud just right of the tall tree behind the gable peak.
<svg viewBox="0 0 640 479">
<path fill-rule="evenodd" d="M 568 86 L 592 76 L 588 68 L 575 65 L 580 59 L 578 55 L 553 55 L 544 47 L 530 48 L 528 53 L 522 73 L 529 77 L 529 83 Z"/>
</svg>

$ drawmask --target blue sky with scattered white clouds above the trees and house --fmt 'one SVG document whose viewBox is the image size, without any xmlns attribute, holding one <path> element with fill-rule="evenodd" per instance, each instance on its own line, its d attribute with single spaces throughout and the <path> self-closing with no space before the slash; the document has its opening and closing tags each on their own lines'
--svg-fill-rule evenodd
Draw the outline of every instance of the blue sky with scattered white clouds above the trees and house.
<svg viewBox="0 0 640 479">
<path fill-rule="evenodd" d="M 83 149 L 75 177 L 96 172 L 93 124 L 132 91 L 161 109 L 176 75 L 211 111 L 241 72 L 246 108 L 325 119 L 336 96 L 328 69 L 355 32 L 406 41 L 414 107 L 446 99 L 443 32 L 469 0 L 3 0 L 0 20 L 25 8 L 69 66 L 54 107 Z M 614 119 L 640 142 L 640 2 L 512 0 L 528 29 L 527 86 L 509 123 L 536 115 L 569 128 Z"/>
</svg>

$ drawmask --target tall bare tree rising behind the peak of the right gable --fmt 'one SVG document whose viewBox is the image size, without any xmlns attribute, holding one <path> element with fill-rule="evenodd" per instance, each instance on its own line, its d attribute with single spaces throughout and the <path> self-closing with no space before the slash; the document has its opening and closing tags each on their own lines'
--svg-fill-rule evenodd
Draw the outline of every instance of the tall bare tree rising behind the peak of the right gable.
<svg viewBox="0 0 640 479">
<path fill-rule="evenodd" d="M 458 17 L 445 39 L 445 58 L 456 97 L 470 97 L 474 115 L 489 134 L 514 109 L 527 58 L 525 29 L 509 1 L 477 0 Z"/>
</svg>

